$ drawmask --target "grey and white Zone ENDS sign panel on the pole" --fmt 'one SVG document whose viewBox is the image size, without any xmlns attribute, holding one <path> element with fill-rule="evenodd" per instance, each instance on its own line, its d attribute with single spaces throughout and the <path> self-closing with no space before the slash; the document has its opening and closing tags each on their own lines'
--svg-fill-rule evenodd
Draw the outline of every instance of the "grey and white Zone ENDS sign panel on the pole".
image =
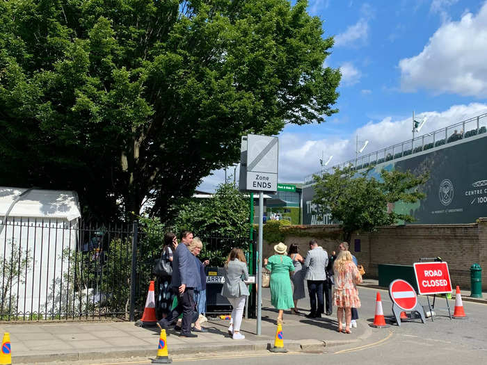
<svg viewBox="0 0 487 365">
<path fill-rule="evenodd" d="M 277 137 L 249 134 L 241 140 L 239 189 L 243 191 L 278 190 Z"/>
</svg>

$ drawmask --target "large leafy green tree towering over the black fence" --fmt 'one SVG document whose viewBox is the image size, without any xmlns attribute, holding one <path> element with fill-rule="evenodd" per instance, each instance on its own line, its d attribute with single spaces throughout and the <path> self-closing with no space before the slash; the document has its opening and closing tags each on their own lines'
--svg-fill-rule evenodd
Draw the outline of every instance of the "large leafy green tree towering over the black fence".
<svg viewBox="0 0 487 365">
<path fill-rule="evenodd" d="M 333 38 L 287 0 L 0 2 L 0 185 L 163 215 L 246 133 L 337 110 Z"/>
</svg>

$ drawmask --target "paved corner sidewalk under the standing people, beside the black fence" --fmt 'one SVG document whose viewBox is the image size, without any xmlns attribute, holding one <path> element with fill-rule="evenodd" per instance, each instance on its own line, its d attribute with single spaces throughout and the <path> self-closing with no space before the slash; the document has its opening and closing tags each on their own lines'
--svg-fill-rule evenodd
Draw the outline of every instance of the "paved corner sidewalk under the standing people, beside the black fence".
<svg viewBox="0 0 487 365">
<path fill-rule="evenodd" d="M 379 288 L 377 280 L 366 279 L 361 286 Z M 380 288 L 384 289 L 384 288 Z M 465 293 L 463 300 L 469 300 Z M 484 293 L 484 298 L 487 298 Z M 477 302 L 479 300 L 476 300 Z M 482 300 L 487 304 L 487 300 Z M 326 347 L 363 343 L 372 335 L 371 318 L 360 318 L 352 334 L 337 332 L 336 314 L 309 319 L 308 300 L 299 302 L 301 316 L 285 312 L 282 331 L 284 346 L 292 352 L 323 352 Z M 371 304 L 367 304 L 371 306 Z M 334 308 L 335 310 L 336 308 Z M 256 320 L 244 319 L 241 333 L 244 340 L 233 340 L 227 334 L 229 321 L 209 318 L 203 327 L 208 332 L 198 333 L 198 338 L 187 339 L 168 331 L 169 356 L 198 355 L 266 350 L 273 346 L 276 335 L 277 311 L 271 309 L 269 289 L 263 291 L 262 334 L 256 334 Z M 80 360 L 147 357 L 157 355 L 159 330 L 157 327 L 136 327 L 124 321 L 70 321 L 0 323 L 1 332 L 10 333 L 14 364 L 42 364 L 76 362 Z"/>
</svg>

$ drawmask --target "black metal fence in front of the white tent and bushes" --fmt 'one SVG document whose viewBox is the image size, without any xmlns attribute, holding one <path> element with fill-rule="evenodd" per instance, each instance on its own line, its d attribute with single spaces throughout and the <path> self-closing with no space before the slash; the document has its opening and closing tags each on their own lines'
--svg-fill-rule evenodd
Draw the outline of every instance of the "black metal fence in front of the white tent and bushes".
<svg viewBox="0 0 487 365">
<path fill-rule="evenodd" d="M 137 222 L 0 220 L 0 321 L 141 316 L 163 232 Z M 246 238 L 202 235 L 201 257 L 220 266 Z"/>
</svg>

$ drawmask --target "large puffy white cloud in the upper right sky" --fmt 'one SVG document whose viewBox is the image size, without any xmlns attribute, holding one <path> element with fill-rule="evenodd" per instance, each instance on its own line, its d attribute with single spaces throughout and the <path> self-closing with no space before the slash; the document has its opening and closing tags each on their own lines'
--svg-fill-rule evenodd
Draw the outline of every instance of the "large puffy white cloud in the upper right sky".
<svg viewBox="0 0 487 365">
<path fill-rule="evenodd" d="M 485 98 L 487 95 L 487 3 L 477 15 L 443 24 L 422 52 L 399 61 L 401 89 L 426 88 Z"/>
</svg>

